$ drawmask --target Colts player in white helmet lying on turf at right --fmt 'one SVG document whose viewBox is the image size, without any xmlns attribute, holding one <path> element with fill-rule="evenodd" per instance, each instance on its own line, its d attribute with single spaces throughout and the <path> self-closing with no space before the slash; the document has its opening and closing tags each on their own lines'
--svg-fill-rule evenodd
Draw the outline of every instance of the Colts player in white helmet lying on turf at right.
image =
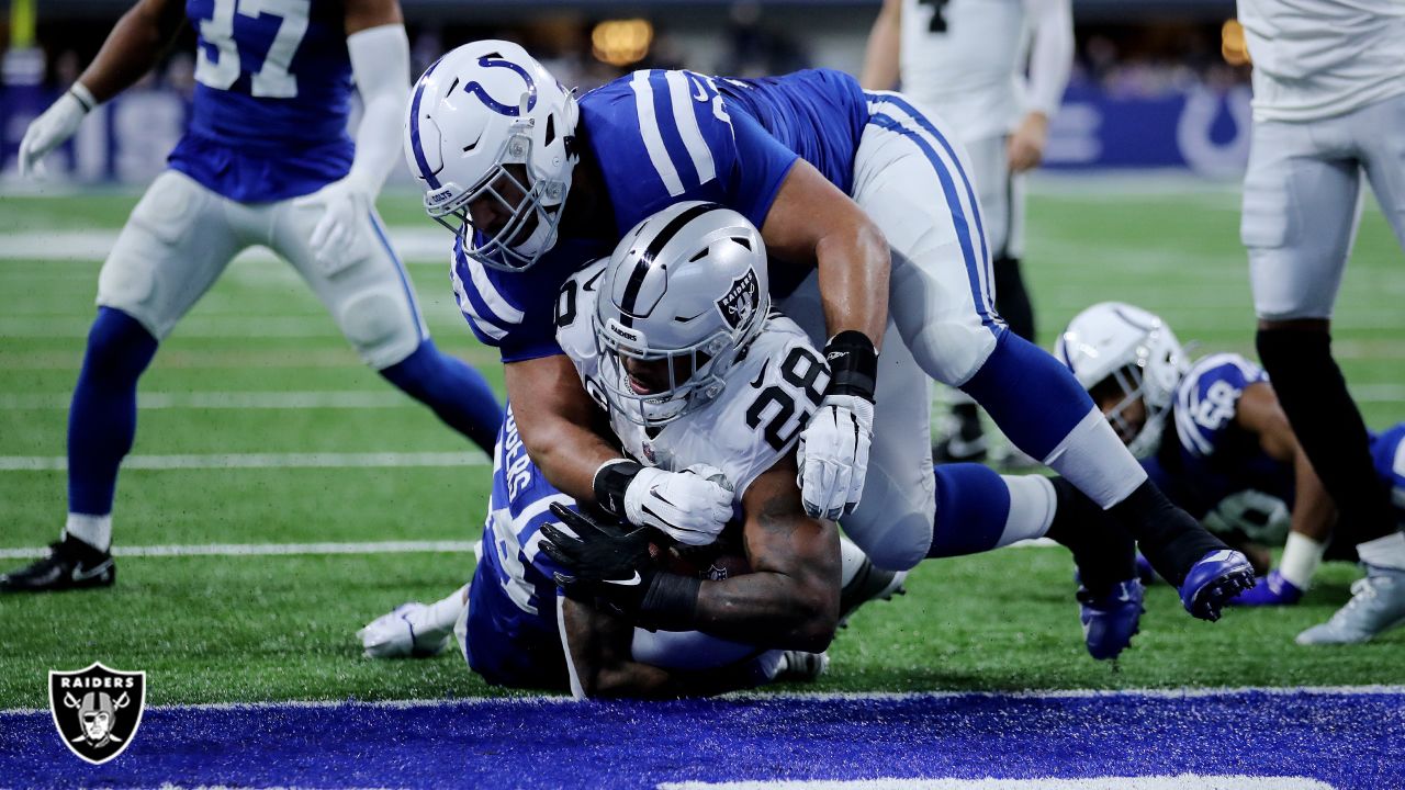
<svg viewBox="0 0 1405 790">
<path fill-rule="evenodd" d="M 1191 363 L 1159 316 L 1103 302 L 1069 322 L 1055 351 L 1087 387 L 1156 485 L 1211 529 L 1259 555 L 1287 544 L 1267 583 L 1231 603 L 1297 603 L 1312 582 L 1336 507 L 1298 444 L 1269 377 L 1238 354 Z M 1405 423 L 1371 434 L 1381 482 L 1405 502 Z M 1291 507 L 1287 505 L 1291 503 Z M 1290 516 L 1291 513 L 1291 516 Z M 1398 513 L 1398 517 L 1405 514 Z M 1315 642 L 1316 630 L 1300 641 Z"/>
</svg>

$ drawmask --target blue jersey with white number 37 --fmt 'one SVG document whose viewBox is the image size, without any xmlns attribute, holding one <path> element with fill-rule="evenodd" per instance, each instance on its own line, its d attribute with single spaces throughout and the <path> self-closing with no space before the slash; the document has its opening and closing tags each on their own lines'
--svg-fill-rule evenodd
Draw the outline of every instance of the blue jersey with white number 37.
<svg viewBox="0 0 1405 790">
<path fill-rule="evenodd" d="M 313 193 L 351 169 L 346 8 L 333 0 L 187 0 L 195 98 L 170 166 L 242 202 Z"/>
</svg>

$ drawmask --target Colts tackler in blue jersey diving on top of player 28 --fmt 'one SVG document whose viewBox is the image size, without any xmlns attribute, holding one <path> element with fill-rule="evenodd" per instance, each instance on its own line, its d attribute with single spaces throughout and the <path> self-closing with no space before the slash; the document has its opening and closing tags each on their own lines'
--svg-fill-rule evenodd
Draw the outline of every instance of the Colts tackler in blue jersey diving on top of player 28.
<svg viewBox="0 0 1405 790">
<path fill-rule="evenodd" d="M 1241 554 L 1148 481 L 1068 370 L 996 315 L 965 157 L 901 94 L 833 70 L 652 70 L 576 98 L 520 46 L 481 41 L 420 77 L 405 149 L 426 211 L 457 236 L 459 306 L 502 353 L 523 441 L 577 500 L 672 533 L 722 527 L 707 513 L 725 491 L 641 468 L 586 429 L 590 398 L 552 336 L 568 277 L 639 219 L 707 200 L 760 228 L 778 306 L 833 368 L 797 426 L 802 499 L 874 562 L 905 569 L 934 551 L 930 375 L 1113 513 L 1194 616 L 1217 619 L 1253 583 Z"/>
</svg>

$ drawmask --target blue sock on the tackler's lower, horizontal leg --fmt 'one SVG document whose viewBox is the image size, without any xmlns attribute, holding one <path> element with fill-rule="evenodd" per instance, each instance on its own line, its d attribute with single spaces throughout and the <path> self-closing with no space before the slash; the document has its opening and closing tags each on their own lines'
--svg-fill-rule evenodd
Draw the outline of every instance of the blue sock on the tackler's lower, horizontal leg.
<svg viewBox="0 0 1405 790">
<path fill-rule="evenodd" d="M 991 551 L 1010 516 L 1010 491 L 989 467 L 941 464 L 937 477 L 937 523 L 927 557 Z"/>
</svg>

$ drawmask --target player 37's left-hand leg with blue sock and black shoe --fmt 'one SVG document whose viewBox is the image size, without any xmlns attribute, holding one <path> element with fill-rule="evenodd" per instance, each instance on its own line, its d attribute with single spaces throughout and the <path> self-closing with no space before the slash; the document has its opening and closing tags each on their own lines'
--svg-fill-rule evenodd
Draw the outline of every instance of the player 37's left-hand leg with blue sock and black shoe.
<svg viewBox="0 0 1405 790">
<path fill-rule="evenodd" d="M 240 247 L 225 198 L 167 170 L 132 211 L 98 277 L 98 315 L 69 409 L 69 516 L 49 557 L 0 590 L 112 583 L 108 552 L 122 458 L 136 436 L 136 381 L 160 340 Z"/>
</svg>

